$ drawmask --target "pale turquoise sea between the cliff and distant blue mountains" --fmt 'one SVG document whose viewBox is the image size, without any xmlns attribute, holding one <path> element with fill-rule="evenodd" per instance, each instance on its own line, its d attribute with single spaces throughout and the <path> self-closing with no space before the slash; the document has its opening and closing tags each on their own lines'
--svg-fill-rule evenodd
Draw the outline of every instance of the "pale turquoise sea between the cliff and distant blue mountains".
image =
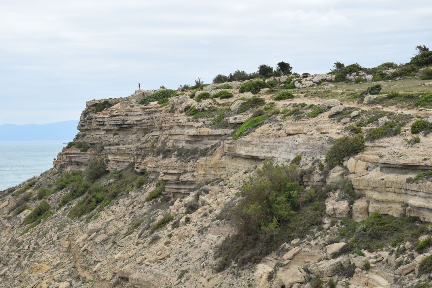
<svg viewBox="0 0 432 288">
<path fill-rule="evenodd" d="M 54 158 L 70 141 L 0 141 L 0 191 L 52 168 Z"/>
</svg>

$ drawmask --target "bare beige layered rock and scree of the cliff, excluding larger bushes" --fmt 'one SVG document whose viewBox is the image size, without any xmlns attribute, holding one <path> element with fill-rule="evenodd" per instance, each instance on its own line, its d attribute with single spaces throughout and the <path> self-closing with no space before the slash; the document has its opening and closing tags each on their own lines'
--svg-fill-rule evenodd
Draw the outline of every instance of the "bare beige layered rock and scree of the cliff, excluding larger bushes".
<svg viewBox="0 0 432 288">
<path fill-rule="evenodd" d="M 349 77 L 355 79 L 356 75 Z M 431 182 L 407 182 L 407 178 L 432 168 L 430 137 L 421 134 L 421 142 L 407 142 L 413 139 L 410 125 L 417 119 L 429 119 L 432 112 L 358 103 L 358 96 L 349 95 L 358 95 L 357 91 L 372 84 L 333 83 L 330 74 L 289 79 L 296 87 L 289 90 L 293 98 L 275 101 L 287 78 L 267 79 L 276 82 L 276 91 L 261 89 L 257 95 L 240 93 L 242 82 L 223 83 L 229 89 L 212 84 L 194 92 L 195 98 L 205 92 L 210 98 L 229 90 L 232 97 L 226 99 L 196 102 L 186 90 L 162 104 L 153 101 L 145 105 L 139 101 L 158 90 L 137 90 L 125 98 L 88 101 L 79 120 L 79 133 L 58 154 L 54 168 L 1 195 L 0 287 L 288 288 L 311 285 L 317 277 L 328 281 L 332 276 L 337 287 L 390 287 L 394 275 L 414 281 L 415 269 L 430 253 L 414 255 L 412 244 L 404 244 L 404 249 L 409 247 L 406 253 L 403 250 L 403 259 L 409 263 L 400 266 L 403 271 L 395 272 L 400 260 L 388 251 L 365 250 L 363 256 L 348 253 L 331 259 L 345 243 L 329 244 L 329 239 L 339 235 L 341 218 L 360 221 L 373 212 L 432 221 Z M 423 84 L 415 78 L 399 82 L 400 88 L 406 87 L 399 89 L 404 92 L 419 93 L 418 85 Z M 394 83 L 382 85 L 392 91 L 399 85 Z M 421 87 L 420 92 L 428 89 Z M 256 96 L 264 101 L 247 106 Z M 265 120 L 259 125 L 242 125 L 260 115 Z M 356 125 L 367 120 L 365 125 Z M 366 134 L 389 122 L 400 123 L 400 130 L 366 141 L 364 152 L 344 158 L 335 168 L 324 168 L 326 152 L 335 139 L 353 135 L 350 127 Z M 243 128 L 243 134 L 233 137 Z M 356 199 L 350 202 L 338 191 L 330 193 L 322 220 L 324 231 L 311 230 L 304 239 L 286 239 L 279 251 L 256 265 L 217 271 L 216 247 L 235 232 L 219 214 L 235 205 L 241 180 L 254 175 L 265 159 L 287 162 L 299 155 L 301 184 L 306 190 L 346 179 L 351 181 Z M 67 173 L 85 171 L 89 162 L 97 159 L 103 159 L 110 172 L 102 187 L 120 183 L 129 177 L 125 175 L 138 176 L 117 187 L 106 205 L 96 205 L 95 210 L 77 218 L 70 214 L 72 207 L 96 194 L 81 194 L 65 205 L 65 195 L 73 194 L 78 184 L 40 192 L 57 185 L 59 177 L 67 177 Z M 145 177 L 145 181 L 134 184 L 141 179 L 136 177 Z M 164 187 L 159 195 L 162 198 L 152 199 L 158 187 Z M 101 191 L 98 193 L 104 193 Z M 49 203 L 52 215 L 38 218 L 40 224 L 29 228 L 32 224 L 27 224 L 26 217 L 38 209 L 41 199 Z M 15 213 L 25 201 L 28 206 Z M 196 202 L 194 209 L 192 202 Z M 413 262 L 408 261 L 413 256 Z M 362 269 L 366 263 L 372 269 Z M 349 267 L 356 268 L 354 275 L 334 276 L 338 269 Z"/>
</svg>

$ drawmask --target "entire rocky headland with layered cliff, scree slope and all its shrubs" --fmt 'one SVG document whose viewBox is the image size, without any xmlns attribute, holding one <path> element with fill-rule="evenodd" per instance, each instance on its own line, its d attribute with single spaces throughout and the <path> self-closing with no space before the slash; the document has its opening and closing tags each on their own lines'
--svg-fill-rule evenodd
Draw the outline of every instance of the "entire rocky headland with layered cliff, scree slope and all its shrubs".
<svg viewBox="0 0 432 288">
<path fill-rule="evenodd" d="M 0 286 L 429 287 L 431 66 L 88 101 L 54 167 L 0 191 Z"/>
</svg>

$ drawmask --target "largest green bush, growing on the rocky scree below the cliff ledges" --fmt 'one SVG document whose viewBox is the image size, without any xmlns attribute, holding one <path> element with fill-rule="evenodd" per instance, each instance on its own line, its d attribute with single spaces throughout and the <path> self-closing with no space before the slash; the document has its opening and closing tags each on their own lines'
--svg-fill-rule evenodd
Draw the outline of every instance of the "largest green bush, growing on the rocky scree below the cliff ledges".
<svg viewBox="0 0 432 288">
<path fill-rule="evenodd" d="M 241 198 L 234 208 L 226 208 L 224 217 L 236 228 L 216 249 L 220 257 L 217 271 L 257 263 L 284 242 L 304 237 L 310 228 L 321 224 L 324 194 L 315 191 L 311 203 L 303 203 L 303 187 L 295 164 L 263 162 L 241 187 Z M 231 206 L 232 207 L 232 206 Z"/>
</svg>

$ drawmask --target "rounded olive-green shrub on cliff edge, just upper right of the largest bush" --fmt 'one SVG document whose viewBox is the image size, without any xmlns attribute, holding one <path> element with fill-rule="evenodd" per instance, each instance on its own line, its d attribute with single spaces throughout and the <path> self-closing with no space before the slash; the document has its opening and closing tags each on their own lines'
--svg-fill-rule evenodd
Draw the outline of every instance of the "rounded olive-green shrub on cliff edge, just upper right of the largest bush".
<svg viewBox="0 0 432 288">
<path fill-rule="evenodd" d="M 325 154 L 325 162 L 331 169 L 336 165 L 342 164 L 343 158 L 354 156 L 364 149 L 365 139 L 362 134 L 353 137 L 343 136 L 337 139 L 333 146 L 327 151 Z"/>
</svg>

